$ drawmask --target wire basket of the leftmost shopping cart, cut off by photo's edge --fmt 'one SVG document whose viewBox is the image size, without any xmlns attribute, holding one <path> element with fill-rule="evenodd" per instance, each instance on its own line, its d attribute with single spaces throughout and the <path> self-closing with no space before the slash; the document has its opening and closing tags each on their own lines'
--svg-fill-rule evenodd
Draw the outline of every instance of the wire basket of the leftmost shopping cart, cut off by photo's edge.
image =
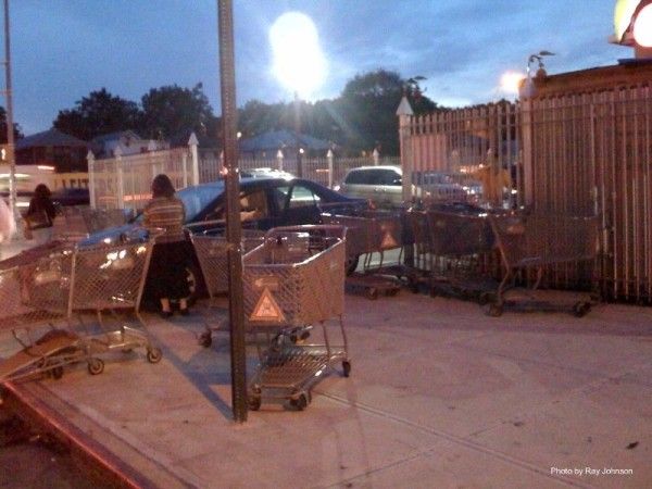
<svg viewBox="0 0 652 489">
<path fill-rule="evenodd" d="M 52 251 L 0 271 L 0 329 L 66 319 L 73 254 L 72 249 Z"/>
</svg>

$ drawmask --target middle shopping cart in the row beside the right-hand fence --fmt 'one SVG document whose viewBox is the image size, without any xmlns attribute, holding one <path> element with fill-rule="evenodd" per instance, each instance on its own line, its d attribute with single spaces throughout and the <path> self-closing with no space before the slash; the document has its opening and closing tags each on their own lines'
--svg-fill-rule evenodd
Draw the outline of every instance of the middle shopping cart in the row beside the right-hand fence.
<svg viewBox="0 0 652 489">
<path fill-rule="evenodd" d="M 494 280 L 482 266 L 493 248 L 487 213 L 428 210 L 408 215 L 416 248 L 411 279 L 425 283 L 432 297 L 487 302 L 494 288 Z"/>
</svg>

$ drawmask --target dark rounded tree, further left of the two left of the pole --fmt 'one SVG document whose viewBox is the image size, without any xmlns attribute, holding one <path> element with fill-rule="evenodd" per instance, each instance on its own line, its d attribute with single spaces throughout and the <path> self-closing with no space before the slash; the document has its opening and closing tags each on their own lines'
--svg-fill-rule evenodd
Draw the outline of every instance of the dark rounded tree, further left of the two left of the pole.
<svg viewBox="0 0 652 489">
<path fill-rule="evenodd" d="M 96 136 L 139 128 L 141 112 L 138 104 L 114 97 L 105 88 L 91 91 L 75 104 L 75 109 L 59 111 L 52 123 L 55 129 L 90 141 Z"/>
</svg>

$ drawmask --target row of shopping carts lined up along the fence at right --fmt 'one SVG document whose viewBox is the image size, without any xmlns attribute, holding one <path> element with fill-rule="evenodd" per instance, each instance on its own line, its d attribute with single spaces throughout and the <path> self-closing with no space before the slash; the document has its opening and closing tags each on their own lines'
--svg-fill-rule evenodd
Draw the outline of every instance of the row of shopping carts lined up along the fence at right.
<svg viewBox="0 0 652 489">
<path fill-rule="evenodd" d="M 493 316 L 505 305 L 526 310 L 569 308 L 581 316 L 594 302 L 592 263 L 598 251 L 597 218 L 551 213 L 487 211 L 463 204 L 428 210 L 367 211 L 355 216 L 323 214 L 347 227 L 349 263 L 363 258 L 348 280 L 378 297 L 378 284 L 402 280 L 413 291 L 477 300 Z M 391 263 L 385 261 L 390 250 Z M 588 263 L 588 293 L 544 289 L 544 272 Z M 516 287 L 526 285 L 526 287 Z M 570 301 L 569 305 L 568 302 Z"/>
</svg>

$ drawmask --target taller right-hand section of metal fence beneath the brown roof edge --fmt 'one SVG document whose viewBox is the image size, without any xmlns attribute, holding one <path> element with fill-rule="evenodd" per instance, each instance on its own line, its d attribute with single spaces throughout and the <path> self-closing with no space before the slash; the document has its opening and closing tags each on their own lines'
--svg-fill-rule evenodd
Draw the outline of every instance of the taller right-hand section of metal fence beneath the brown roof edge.
<svg viewBox="0 0 652 489">
<path fill-rule="evenodd" d="M 598 281 L 607 299 L 652 302 L 652 88 L 534 99 L 524 104 L 531 204 L 597 214 Z M 572 271 L 557 271 L 564 281 Z"/>
</svg>

